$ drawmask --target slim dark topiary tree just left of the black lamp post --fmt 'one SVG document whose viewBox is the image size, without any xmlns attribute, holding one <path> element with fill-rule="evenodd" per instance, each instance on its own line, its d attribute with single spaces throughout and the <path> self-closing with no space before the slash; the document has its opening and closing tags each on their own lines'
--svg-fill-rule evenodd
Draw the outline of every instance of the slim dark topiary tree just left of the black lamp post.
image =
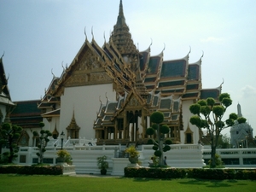
<svg viewBox="0 0 256 192">
<path fill-rule="evenodd" d="M 41 122 L 40 124 L 40 127 L 43 128 L 44 127 L 44 123 Z M 51 132 L 49 132 L 48 130 L 41 130 L 40 131 L 40 137 L 38 135 L 38 132 L 37 131 L 33 131 L 33 135 L 35 137 L 38 137 L 38 148 L 39 148 L 39 152 L 37 153 L 38 155 L 38 163 L 39 164 L 42 164 L 43 163 L 43 160 L 44 160 L 44 152 L 46 151 L 46 146 L 47 146 L 47 143 L 49 142 L 49 138 L 50 136 L 52 136 Z"/>
</svg>

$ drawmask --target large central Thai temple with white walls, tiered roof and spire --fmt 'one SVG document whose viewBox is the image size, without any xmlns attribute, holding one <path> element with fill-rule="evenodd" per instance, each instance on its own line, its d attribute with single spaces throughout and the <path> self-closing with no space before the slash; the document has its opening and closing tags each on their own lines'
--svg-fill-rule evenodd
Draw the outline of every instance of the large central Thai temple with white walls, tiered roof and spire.
<svg viewBox="0 0 256 192">
<path fill-rule="evenodd" d="M 132 20 L 131 20 L 132 21 Z M 165 60 L 164 50 L 138 50 L 126 24 L 123 3 L 113 32 L 103 45 L 85 34 L 84 44 L 61 77 L 55 77 L 38 102 L 44 129 L 60 137 L 96 139 L 98 145 L 147 143 L 150 114 L 164 113 L 173 143 L 198 143 L 201 132 L 190 125 L 189 106 L 199 99 L 218 99 L 221 85 L 202 89 L 201 58 Z M 30 127 L 27 135 L 32 145 Z"/>
</svg>

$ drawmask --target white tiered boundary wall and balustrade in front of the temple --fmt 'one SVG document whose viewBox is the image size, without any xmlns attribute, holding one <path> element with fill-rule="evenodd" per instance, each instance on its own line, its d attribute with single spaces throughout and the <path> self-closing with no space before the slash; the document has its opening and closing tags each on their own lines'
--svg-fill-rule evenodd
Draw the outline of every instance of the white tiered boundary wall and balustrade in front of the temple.
<svg viewBox="0 0 256 192">
<path fill-rule="evenodd" d="M 142 162 L 141 166 L 148 166 L 148 160 L 153 155 L 153 145 L 143 145 L 139 150 L 139 160 Z M 128 158 L 117 158 L 119 148 L 124 146 L 117 145 L 102 145 L 102 146 L 84 146 L 81 143 L 76 143 L 70 147 L 64 147 L 73 158 L 73 166 L 77 174 L 100 174 L 97 168 L 96 158 L 102 155 L 108 157 L 108 173 L 112 175 L 124 175 L 125 166 L 129 166 Z M 164 155 L 167 157 L 168 166 L 176 168 L 196 168 L 205 166 L 203 159 L 210 159 L 210 149 L 203 149 L 201 144 L 175 144 L 171 145 L 171 150 Z M 47 147 L 44 154 L 45 163 L 52 166 L 55 165 L 57 158 L 56 152 L 60 147 Z M 3 152 L 6 151 L 3 148 Z M 16 164 L 19 165 L 32 165 L 37 163 L 38 148 L 36 147 L 20 147 L 19 156 Z M 222 159 L 239 159 L 239 165 L 225 165 L 225 167 L 256 167 L 256 164 L 244 165 L 243 160 L 256 159 L 256 148 L 227 148 L 218 149 L 217 153 L 221 155 Z M 48 161 L 47 161 L 48 160 Z M 236 160 L 237 161 L 237 160 Z M 253 161 L 254 162 L 254 161 Z"/>
</svg>

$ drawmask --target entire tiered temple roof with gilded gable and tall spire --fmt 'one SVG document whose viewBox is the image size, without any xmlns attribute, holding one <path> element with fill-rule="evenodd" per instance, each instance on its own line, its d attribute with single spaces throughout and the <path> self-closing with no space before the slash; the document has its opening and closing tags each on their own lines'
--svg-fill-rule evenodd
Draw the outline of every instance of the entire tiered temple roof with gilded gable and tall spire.
<svg viewBox="0 0 256 192">
<path fill-rule="evenodd" d="M 209 96 L 218 99 L 221 91 L 221 87 L 201 88 L 201 58 L 189 63 L 189 53 L 181 59 L 165 61 L 164 51 L 151 55 L 149 46 L 140 52 L 132 41 L 120 1 L 119 15 L 108 43 L 101 47 L 94 38 L 89 42 L 86 36 L 73 62 L 63 67 L 61 78 L 53 79 L 39 108 L 50 107 L 53 114 L 56 110 L 59 112 L 60 108 L 52 106 L 60 102 L 59 97 L 66 87 L 113 83 L 117 99 L 99 103 L 96 130 L 116 127 L 120 115 L 129 119 L 130 112 L 123 113 L 129 110 L 135 116 L 135 113 L 149 116 L 159 110 L 165 114 L 167 125 L 176 125 L 182 130 L 182 102 Z M 44 113 L 43 117 L 50 115 L 51 112 Z"/>
</svg>

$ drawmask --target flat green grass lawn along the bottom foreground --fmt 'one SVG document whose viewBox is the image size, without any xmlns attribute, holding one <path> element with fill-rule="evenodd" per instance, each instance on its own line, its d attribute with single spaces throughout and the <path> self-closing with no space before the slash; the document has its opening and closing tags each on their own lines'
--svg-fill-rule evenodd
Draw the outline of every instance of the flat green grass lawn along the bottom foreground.
<svg viewBox="0 0 256 192">
<path fill-rule="evenodd" d="M 0 174 L 1 192 L 72 192 L 72 191 L 175 191 L 241 192 L 255 191 L 250 180 L 146 179 L 125 177 L 25 176 Z"/>
</svg>

